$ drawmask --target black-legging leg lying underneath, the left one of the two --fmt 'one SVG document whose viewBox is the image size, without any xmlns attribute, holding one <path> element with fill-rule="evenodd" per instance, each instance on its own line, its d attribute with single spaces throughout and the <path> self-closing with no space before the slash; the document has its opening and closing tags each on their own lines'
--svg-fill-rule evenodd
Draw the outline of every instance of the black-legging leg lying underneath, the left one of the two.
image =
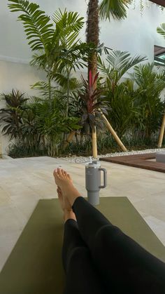
<svg viewBox="0 0 165 294">
<path fill-rule="evenodd" d="M 104 294 L 89 248 L 80 236 L 76 220 L 64 225 L 62 261 L 66 272 L 65 294 Z"/>
</svg>

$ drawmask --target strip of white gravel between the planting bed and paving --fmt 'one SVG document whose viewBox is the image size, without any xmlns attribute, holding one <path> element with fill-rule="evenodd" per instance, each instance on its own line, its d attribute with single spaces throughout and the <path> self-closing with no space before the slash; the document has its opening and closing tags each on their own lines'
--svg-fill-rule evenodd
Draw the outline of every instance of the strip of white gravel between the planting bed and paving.
<svg viewBox="0 0 165 294">
<path fill-rule="evenodd" d="M 144 153 L 155 153 L 155 152 L 165 152 L 165 148 L 157 148 L 157 149 L 145 149 L 145 150 L 138 150 L 138 151 L 129 151 L 129 152 L 115 152 L 115 153 L 108 153 L 108 154 L 100 154 L 98 155 L 97 160 L 99 158 L 103 157 L 114 157 L 114 156 L 125 156 L 125 155 L 134 155 L 134 154 L 144 154 Z M 71 163 L 87 163 L 91 162 L 93 160 L 92 156 L 68 156 L 68 157 L 61 157 L 61 159 L 64 159 L 66 161 L 69 161 Z"/>
</svg>

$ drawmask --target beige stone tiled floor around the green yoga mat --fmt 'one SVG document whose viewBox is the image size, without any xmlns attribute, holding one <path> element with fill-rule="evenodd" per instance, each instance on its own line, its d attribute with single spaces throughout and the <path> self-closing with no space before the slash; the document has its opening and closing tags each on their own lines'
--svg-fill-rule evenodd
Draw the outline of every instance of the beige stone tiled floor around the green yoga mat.
<svg viewBox="0 0 165 294">
<path fill-rule="evenodd" d="M 38 199 L 57 197 L 52 171 L 61 165 L 79 191 L 86 195 L 85 163 L 36 157 L 0 162 L 0 270 L 20 236 Z M 101 196 L 127 196 L 165 244 L 165 174 L 101 162 L 108 172 L 108 187 Z"/>
</svg>

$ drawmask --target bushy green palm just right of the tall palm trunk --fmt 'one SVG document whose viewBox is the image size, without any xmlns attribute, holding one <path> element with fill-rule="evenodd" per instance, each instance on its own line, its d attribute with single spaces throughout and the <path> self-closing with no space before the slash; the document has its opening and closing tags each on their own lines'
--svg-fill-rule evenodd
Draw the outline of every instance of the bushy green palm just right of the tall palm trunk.
<svg viewBox="0 0 165 294">
<path fill-rule="evenodd" d="M 128 52 L 112 51 L 106 57 L 106 63 L 99 60 L 99 70 L 105 75 L 106 84 L 104 95 L 108 100 L 110 111 L 108 121 L 119 137 L 131 130 L 137 107 L 134 105 L 133 83 L 127 79 L 122 81 L 124 74 L 145 57 L 134 56 Z"/>
</svg>

